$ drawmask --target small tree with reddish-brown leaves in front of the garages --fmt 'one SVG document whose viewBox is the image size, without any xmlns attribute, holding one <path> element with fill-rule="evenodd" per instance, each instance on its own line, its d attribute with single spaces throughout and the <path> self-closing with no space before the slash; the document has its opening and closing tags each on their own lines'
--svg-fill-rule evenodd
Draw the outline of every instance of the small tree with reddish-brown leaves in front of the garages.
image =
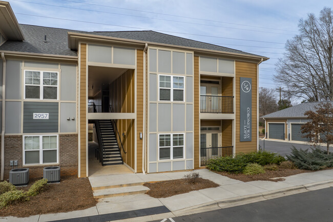
<svg viewBox="0 0 333 222">
<path fill-rule="evenodd" d="M 304 115 L 310 119 L 301 126 L 304 137 L 310 139 L 310 143 L 317 146 L 326 143 L 327 154 L 329 145 L 333 144 L 333 107 L 330 103 L 320 103 L 316 111 L 306 111 Z"/>
</svg>

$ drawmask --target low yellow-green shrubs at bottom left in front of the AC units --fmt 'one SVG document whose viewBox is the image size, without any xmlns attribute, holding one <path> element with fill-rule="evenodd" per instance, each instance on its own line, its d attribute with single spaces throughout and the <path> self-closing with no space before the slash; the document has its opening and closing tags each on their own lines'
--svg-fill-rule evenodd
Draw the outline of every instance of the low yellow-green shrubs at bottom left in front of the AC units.
<svg viewBox="0 0 333 222">
<path fill-rule="evenodd" d="M 15 201 L 27 201 L 30 196 L 36 196 L 46 189 L 47 179 L 37 180 L 27 192 L 16 190 L 16 187 L 7 181 L 0 183 L 0 209 L 13 204 Z"/>
</svg>

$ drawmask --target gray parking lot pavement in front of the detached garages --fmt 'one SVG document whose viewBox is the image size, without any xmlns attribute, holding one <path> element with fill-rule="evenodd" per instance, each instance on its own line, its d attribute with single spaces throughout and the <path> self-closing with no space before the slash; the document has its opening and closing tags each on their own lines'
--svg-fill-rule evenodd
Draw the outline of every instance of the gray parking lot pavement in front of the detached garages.
<svg viewBox="0 0 333 222">
<path fill-rule="evenodd" d="M 286 143 L 286 142 L 277 142 L 272 140 L 259 140 L 259 146 L 262 150 L 276 152 L 282 156 L 289 155 L 291 153 L 291 148 L 296 147 L 297 149 L 309 149 L 311 146 L 307 144 L 295 144 L 295 143 Z M 326 150 L 326 147 L 321 146 L 323 150 Z M 333 151 L 333 147 L 330 147 L 330 152 Z"/>
</svg>

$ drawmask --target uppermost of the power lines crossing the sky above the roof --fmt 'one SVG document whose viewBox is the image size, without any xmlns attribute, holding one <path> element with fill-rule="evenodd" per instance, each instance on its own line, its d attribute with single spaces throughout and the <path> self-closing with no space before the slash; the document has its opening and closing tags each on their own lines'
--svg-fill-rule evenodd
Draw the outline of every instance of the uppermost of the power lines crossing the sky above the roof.
<svg viewBox="0 0 333 222">
<path fill-rule="evenodd" d="M 180 16 L 180 15 L 172 15 L 172 14 L 150 12 L 150 11 L 142 11 L 142 10 L 137 10 L 137 9 L 120 8 L 120 7 L 107 6 L 107 5 L 98 5 L 98 4 L 92 4 L 92 3 L 82 3 L 82 2 L 75 2 L 75 1 L 70 1 L 70 0 L 61 0 L 61 1 L 71 2 L 71 3 L 79 3 L 79 4 L 85 4 L 85 5 L 108 7 L 108 8 L 115 8 L 115 9 L 130 10 L 130 11 L 137 11 L 137 12 L 144 12 L 144 13 L 152 13 L 152 14 L 159 14 L 159 15 L 167 15 L 167 16 L 174 16 L 174 17 L 181 17 L 181 18 L 197 19 L 197 20 L 206 21 L 206 22 L 216 22 L 216 23 L 224 23 L 224 24 L 230 24 L 230 25 L 261 28 L 261 29 L 272 29 L 272 30 L 279 30 L 279 31 L 295 32 L 295 31 L 292 31 L 292 30 L 285 30 L 285 29 L 268 28 L 268 27 L 262 27 L 262 26 L 252 26 L 252 25 L 244 25 L 244 24 L 237 24 L 237 23 L 227 23 L 227 22 L 215 21 L 215 20 L 210 20 L 210 19 L 195 18 L 195 17 L 188 17 L 188 16 Z"/>
</svg>

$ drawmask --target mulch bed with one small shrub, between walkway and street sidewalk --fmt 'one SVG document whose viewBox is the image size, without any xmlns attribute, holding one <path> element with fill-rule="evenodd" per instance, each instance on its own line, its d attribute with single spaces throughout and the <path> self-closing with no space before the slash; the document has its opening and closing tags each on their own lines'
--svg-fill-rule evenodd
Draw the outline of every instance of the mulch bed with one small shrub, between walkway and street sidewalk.
<svg viewBox="0 0 333 222">
<path fill-rule="evenodd" d="M 208 179 L 197 178 L 195 179 L 195 183 L 189 183 L 188 179 L 174 179 L 156 183 L 145 183 L 143 186 L 150 189 L 147 192 L 148 195 L 161 198 L 188 193 L 194 190 L 218 187 L 219 185 Z"/>
</svg>

